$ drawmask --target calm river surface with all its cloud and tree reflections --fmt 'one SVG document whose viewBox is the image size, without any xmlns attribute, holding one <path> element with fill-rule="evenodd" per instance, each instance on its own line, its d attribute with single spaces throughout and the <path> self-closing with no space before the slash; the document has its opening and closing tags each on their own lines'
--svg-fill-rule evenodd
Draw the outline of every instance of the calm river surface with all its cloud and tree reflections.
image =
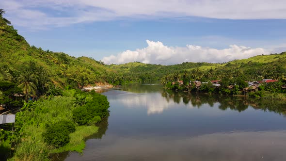
<svg viewBox="0 0 286 161">
<path fill-rule="evenodd" d="M 102 93 L 110 116 L 65 161 L 286 161 L 286 102 L 173 93 L 134 84 Z"/>
</svg>

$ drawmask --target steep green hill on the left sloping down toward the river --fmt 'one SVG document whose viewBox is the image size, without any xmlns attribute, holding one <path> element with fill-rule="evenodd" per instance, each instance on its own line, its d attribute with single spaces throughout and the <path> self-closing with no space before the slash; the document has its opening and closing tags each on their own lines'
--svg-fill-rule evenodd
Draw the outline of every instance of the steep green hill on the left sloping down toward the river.
<svg viewBox="0 0 286 161">
<path fill-rule="evenodd" d="M 30 46 L 10 22 L 0 15 L 0 81 L 19 83 L 21 75 L 33 75 L 40 92 L 52 82 L 60 87 L 107 82 L 116 71 L 100 61 L 71 57 L 62 52 L 44 51 Z M 42 89 L 41 89 L 42 88 Z"/>
</svg>

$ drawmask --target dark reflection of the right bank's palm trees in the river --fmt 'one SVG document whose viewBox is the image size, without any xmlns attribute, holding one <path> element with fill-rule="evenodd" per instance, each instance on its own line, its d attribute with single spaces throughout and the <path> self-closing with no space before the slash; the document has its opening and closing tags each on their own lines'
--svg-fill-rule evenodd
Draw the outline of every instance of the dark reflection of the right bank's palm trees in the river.
<svg viewBox="0 0 286 161">
<path fill-rule="evenodd" d="M 174 92 L 171 90 L 163 90 L 162 97 L 165 97 L 167 101 L 174 101 L 177 104 L 184 103 L 188 105 L 200 108 L 203 104 L 208 104 L 213 107 L 214 103 L 220 103 L 219 109 L 226 110 L 231 109 L 238 112 L 245 111 L 249 106 L 254 109 L 261 109 L 270 112 L 280 113 L 286 115 L 286 102 L 279 100 L 268 99 L 249 99 L 247 97 L 232 97 L 232 96 L 220 96 L 220 95 L 208 95 L 208 94 L 193 94 L 184 92 Z"/>
</svg>

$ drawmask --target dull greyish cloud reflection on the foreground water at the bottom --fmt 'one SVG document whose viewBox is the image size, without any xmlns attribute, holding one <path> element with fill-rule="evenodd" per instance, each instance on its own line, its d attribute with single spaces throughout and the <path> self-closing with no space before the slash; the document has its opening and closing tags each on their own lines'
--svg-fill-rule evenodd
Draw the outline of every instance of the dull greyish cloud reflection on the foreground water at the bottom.
<svg viewBox="0 0 286 161">
<path fill-rule="evenodd" d="M 104 146 L 100 150 L 87 147 L 85 153 L 89 155 L 80 159 L 88 156 L 102 161 L 283 161 L 286 131 L 213 133 L 179 139 L 112 135 L 101 140 L 101 145 Z M 70 158 L 76 159 L 76 155 Z"/>
</svg>

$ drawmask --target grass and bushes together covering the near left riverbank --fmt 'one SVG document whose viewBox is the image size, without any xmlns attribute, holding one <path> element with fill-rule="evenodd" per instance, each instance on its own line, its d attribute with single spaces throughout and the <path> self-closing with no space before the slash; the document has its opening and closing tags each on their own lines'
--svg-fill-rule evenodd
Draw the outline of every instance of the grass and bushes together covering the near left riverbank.
<svg viewBox="0 0 286 161">
<path fill-rule="evenodd" d="M 73 122 L 71 112 L 85 106 L 74 106 L 76 100 L 73 96 L 79 95 L 90 97 L 86 104 L 101 101 L 90 103 L 95 105 L 89 109 L 90 113 L 92 110 L 95 112 L 87 116 L 91 118 L 88 120 L 91 126 L 79 126 L 81 124 Z M 86 107 L 89 108 L 89 106 Z M 11 127 L 5 128 L 5 137 L 0 138 L 0 148 L 3 149 L 0 155 L 5 155 L 6 158 L 13 156 L 13 159 L 20 161 L 44 161 L 48 160 L 48 154 L 51 153 L 70 150 L 82 152 L 85 147 L 85 137 L 98 130 L 92 124 L 100 122 L 100 116 L 107 117 L 108 108 L 109 102 L 105 96 L 95 92 L 83 93 L 74 89 L 64 90 L 63 96 L 25 102 L 22 110 L 16 113 L 16 131 L 10 131 Z M 4 135 L 1 133 L 0 136 Z M 11 151 L 11 147 L 15 150 Z"/>
</svg>

